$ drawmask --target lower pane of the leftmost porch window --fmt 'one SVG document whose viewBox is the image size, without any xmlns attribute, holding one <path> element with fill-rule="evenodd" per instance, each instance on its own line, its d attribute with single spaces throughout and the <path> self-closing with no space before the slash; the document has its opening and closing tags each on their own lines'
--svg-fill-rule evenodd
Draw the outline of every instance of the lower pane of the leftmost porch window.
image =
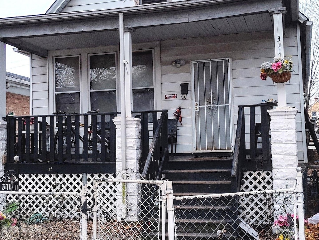
<svg viewBox="0 0 319 240">
<path fill-rule="evenodd" d="M 80 93 L 60 93 L 56 94 L 56 112 L 80 113 Z"/>
</svg>

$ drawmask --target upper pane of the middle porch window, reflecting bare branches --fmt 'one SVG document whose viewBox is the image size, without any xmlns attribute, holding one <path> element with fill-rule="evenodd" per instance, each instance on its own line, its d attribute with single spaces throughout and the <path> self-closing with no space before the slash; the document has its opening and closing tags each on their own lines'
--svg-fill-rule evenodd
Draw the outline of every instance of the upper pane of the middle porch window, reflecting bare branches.
<svg viewBox="0 0 319 240">
<path fill-rule="evenodd" d="M 115 54 L 90 56 L 91 90 L 116 88 Z"/>
</svg>

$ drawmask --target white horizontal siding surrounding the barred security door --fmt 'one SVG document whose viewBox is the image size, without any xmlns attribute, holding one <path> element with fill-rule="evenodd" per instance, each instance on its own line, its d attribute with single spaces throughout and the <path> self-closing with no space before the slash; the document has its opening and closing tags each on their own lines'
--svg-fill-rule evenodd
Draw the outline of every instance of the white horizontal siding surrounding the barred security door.
<svg viewBox="0 0 319 240">
<path fill-rule="evenodd" d="M 232 95 L 233 95 L 233 122 L 236 129 L 238 105 L 258 104 L 263 99 L 277 100 L 277 87 L 269 78 L 262 81 L 259 78 L 260 64 L 272 61 L 274 56 L 273 31 L 203 37 L 161 42 L 161 73 L 162 73 L 162 108 L 168 109 L 168 118 L 174 118 L 173 112 L 181 104 L 183 126 L 178 126 L 177 152 L 193 151 L 192 136 L 192 101 L 191 101 L 191 60 L 206 60 L 217 58 L 232 59 Z M 297 145 L 298 159 L 304 160 L 302 150 L 302 124 L 300 113 L 300 82 L 298 69 L 298 48 L 296 27 L 286 28 L 284 37 L 285 55 L 292 56 L 293 70 L 290 82 L 286 84 L 287 105 L 298 108 Z M 176 68 L 171 61 L 184 59 L 185 66 Z M 180 83 L 189 83 L 189 94 L 186 100 L 181 100 Z M 165 99 L 165 94 L 177 93 L 175 99 Z M 248 114 L 249 112 L 245 112 Z M 260 120 L 260 116 L 256 121 Z M 249 116 L 246 116 L 249 123 Z M 248 130 L 248 125 L 246 127 Z M 249 134 L 246 136 L 249 142 Z"/>
</svg>

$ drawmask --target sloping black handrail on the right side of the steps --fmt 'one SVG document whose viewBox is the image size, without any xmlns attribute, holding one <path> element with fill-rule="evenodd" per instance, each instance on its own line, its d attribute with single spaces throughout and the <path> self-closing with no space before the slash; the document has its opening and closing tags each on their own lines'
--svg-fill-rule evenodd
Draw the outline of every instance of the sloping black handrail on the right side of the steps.
<svg viewBox="0 0 319 240">
<path fill-rule="evenodd" d="M 236 129 L 236 138 L 235 138 L 235 146 L 234 146 L 234 159 L 232 166 L 232 190 L 234 192 L 239 192 L 240 190 L 240 181 L 239 177 L 241 177 L 241 169 L 242 169 L 242 142 L 245 141 L 245 114 L 244 107 L 239 106 L 238 109 L 238 118 L 237 118 L 237 129 Z M 244 134 L 242 134 L 242 131 Z M 243 137 L 243 139 L 242 139 Z"/>
</svg>

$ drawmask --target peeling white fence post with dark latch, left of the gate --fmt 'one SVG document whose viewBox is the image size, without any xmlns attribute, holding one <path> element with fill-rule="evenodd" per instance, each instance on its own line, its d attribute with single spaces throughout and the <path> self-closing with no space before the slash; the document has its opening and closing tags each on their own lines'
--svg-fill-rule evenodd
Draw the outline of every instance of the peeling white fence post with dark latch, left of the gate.
<svg viewBox="0 0 319 240">
<path fill-rule="evenodd" d="M 81 240 L 87 240 L 87 173 L 82 173 Z"/>
</svg>

